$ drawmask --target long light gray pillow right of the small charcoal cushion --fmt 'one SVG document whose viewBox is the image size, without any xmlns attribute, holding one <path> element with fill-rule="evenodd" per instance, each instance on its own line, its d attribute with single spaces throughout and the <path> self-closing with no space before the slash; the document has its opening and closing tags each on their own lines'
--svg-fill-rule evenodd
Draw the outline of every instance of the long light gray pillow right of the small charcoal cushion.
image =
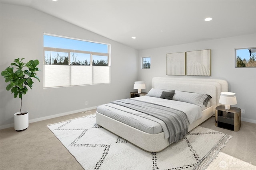
<svg viewBox="0 0 256 170">
<path fill-rule="evenodd" d="M 206 98 L 208 98 L 206 94 L 181 92 L 176 90 L 172 100 L 191 103 L 191 104 L 195 104 L 197 106 L 202 107 L 204 104 L 204 100 Z"/>
</svg>

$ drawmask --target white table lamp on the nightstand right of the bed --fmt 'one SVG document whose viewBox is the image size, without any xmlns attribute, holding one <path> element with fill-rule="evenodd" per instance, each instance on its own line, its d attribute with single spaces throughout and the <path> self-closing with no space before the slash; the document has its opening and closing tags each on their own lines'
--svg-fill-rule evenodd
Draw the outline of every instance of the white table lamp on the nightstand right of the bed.
<svg viewBox="0 0 256 170">
<path fill-rule="evenodd" d="M 232 92 L 221 92 L 219 103 L 224 104 L 225 109 L 230 109 L 230 105 L 237 104 L 236 94 Z"/>
</svg>

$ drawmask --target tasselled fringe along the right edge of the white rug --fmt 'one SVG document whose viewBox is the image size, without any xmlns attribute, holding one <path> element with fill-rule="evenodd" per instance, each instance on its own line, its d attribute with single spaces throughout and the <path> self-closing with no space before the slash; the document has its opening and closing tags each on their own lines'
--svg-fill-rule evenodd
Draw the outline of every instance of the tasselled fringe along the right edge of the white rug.
<svg viewBox="0 0 256 170">
<path fill-rule="evenodd" d="M 212 148 L 212 150 L 210 150 L 210 152 L 200 160 L 200 162 L 193 170 L 205 170 L 210 165 L 212 160 L 218 156 L 220 150 L 227 145 L 229 139 L 231 138 L 232 136 L 230 135 L 224 135 L 224 137 L 220 139 L 220 141 Z"/>
</svg>

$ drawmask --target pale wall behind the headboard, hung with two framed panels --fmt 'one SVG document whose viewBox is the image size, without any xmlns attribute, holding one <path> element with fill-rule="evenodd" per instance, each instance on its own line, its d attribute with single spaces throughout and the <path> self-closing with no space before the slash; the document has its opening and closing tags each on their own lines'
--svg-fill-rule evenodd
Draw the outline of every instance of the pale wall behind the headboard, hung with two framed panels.
<svg viewBox="0 0 256 170">
<path fill-rule="evenodd" d="M 174 76 L 187 78 L 214 78 L 228 82 L 228 90 L 236 93 L 234 107 L 245 109 L 242 120 L 256 123 L 256 68 L 235 68 L 236 48 L 256 47 L 256 34 L 243 35 L 212 41 L 201 41 L 183 45 L 161 47 L 139 51 L 141 57 L 151 57 L 150 70 L 139 69 L 139 80 L 145 81 L 148 92 L 153 77 L 171 77 L 166 75 L 166 54 L 186 51 L 212 49 L 212 76 Z M 140 68 L 140 66 L 138 66 Z"/>
</svg>

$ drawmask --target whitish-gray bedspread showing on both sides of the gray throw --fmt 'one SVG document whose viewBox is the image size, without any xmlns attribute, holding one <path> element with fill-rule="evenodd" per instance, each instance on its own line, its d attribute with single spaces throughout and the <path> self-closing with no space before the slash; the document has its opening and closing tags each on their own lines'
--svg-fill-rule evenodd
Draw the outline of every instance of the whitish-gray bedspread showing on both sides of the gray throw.
<svg viewBox="0 0 256 170">
<path fill-rule="evenodd" d="M 201 107 L 194 104 L 162 98 L 155 98 L 150 96 L 141 96 L 132 99 L 159 104 L 162 106 L 171 107 L 183 111 L 188 116 L 189 124 L 202 117 Z M 121 121 L 122 123 L 135 127 L 147 133 L 157 134 L 161 133 L 162 131 L 167 131 L 165 123 L 160 119 L 147 115 L 146 113 L 141 113 L 139 111 L 129 109 L 127 107 L 122 107 L 110 103 L 98 106 L 97 111 L 99 113 L 102 113 L 103 115 L 111 117 L 112 119 L 116 119 L 118 121 Z M 169 137 L 169 134 L 164 134 L 165 138 Z"/>
</svg>

